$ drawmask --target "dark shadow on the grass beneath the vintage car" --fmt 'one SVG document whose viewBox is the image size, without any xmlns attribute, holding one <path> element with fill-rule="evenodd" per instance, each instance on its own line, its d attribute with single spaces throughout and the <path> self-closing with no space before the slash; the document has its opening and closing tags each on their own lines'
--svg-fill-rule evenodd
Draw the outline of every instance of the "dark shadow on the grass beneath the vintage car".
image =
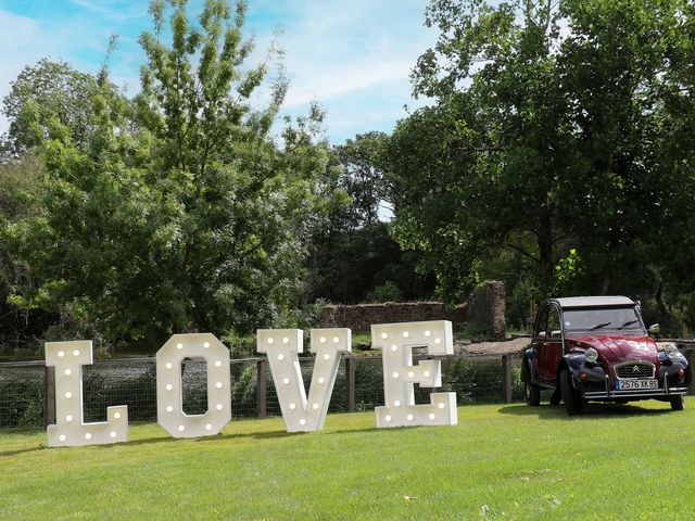
<svg viewBox="0 0 695 521">
<path fill-rule="evenodd" d="M 666 404 L 668 406 L 668 404 Z M 670 407 L 665 409 L 646 409 L 636 405 L 628 404 L 586 404 L 584 411 L 578 416 L 568 416 L 564 405 L 540 405 L 530 407 L 528 405 L 507 405 L 500 408 L 503 415 L 513 416 L 536 416 L 542 420 L 581 420 L 582 418 L 616 418 L 636 416 L 661 416 L 672 414 Z"/>
</svg>

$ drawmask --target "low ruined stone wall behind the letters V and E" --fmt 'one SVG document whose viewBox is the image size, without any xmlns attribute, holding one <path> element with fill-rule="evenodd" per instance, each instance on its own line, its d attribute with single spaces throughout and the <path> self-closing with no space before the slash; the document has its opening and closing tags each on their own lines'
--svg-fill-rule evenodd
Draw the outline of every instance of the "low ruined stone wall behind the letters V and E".
<svg viewBox="0 0 695 521">
<path fill-rule="evenodd" d="M 505 334 L 504 298 L 504 283 L 488 281 L 454 309 L 441 302 L 387 302 L 354 306 L 328 304 L 321 308 L 318 327 L 369 331 L 372 323 L 451 320 L 454 329 L 470 325 L 488 331 L 492 338 L 502 338 Z"/>
</svg>

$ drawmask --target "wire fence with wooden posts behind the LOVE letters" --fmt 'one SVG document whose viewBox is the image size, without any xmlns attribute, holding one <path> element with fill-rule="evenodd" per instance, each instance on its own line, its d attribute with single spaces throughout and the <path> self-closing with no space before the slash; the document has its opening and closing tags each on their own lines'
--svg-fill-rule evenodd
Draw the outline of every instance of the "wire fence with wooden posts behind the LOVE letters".
<svg viewBox="0 0 695 521">
<path fill-rule="evenodd" d="M 415 356 L 419 359 L 431 358 Z M 521 401 L 520 355 L 465 355 L 440 358 L 442 387 L 416 389 L 416 403 L 428 403 L 431 392 L 455 392 L 459 404 Z M 313 358 L 300 358 L 305 387 Z M 230 361 L 232 418 L 280 415 L 266 358 Z M 53 369 L 43 361 L 0 364 L 0 429 L 36 429 L 54 422 Z M 182 408 L 186 414 L 207 409 L 207 367 L 202 358 L 182 363 Z M 306 389 L 308 392 L 308 389 Z M 83 368 L 84 421 L 105 421 L 106 407 L 128 406 L 129 421 L 156 421 L 156 366 L 153 357 L 96 360 Z M 371 410 L 383 405 L 383 366 L 380 357 L 343 357 L 329 412 Z"/>
</svg>

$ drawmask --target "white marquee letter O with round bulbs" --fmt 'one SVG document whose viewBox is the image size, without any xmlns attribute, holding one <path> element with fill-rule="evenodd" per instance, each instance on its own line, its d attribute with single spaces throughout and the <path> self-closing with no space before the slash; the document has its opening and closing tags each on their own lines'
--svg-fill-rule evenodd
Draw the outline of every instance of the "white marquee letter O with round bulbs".
<svg viewBox="0 0 695 521">
<path fill-rule="evenodd" d="M 207 411 L 187 415 L 182 405 L 181 363 L 207 363 Z M 174 334 L 156 352 L 156 421 L 174 437 L 217 434 L 231 420 L 229 350 L 212 333 Z"/>
</svg>

